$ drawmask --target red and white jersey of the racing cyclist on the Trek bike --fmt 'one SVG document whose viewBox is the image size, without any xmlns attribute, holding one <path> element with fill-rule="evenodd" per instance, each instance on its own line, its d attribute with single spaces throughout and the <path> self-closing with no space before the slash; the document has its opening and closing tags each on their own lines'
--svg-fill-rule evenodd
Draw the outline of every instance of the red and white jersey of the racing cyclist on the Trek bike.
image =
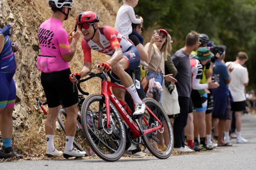
<svg viewBox="0 0 256 170">
<path fill-rule="evenodd" d="M 120 47 L 122 52 L 125 53 L 127 49 L 133 45 L 133 43 L 118 32 L 113 27 L 108 25 L 99 27 L 100 43 L 104 48 L 101 48 L 97 43 L 92 40 L 82 39 L 82 49 L 84 55 L 84 62 L 92 62 L 91 49 L 94 49 L 100 53 L 109 55 L 110 57 L 114 54 L 113 49 Z"/>
</svg>

